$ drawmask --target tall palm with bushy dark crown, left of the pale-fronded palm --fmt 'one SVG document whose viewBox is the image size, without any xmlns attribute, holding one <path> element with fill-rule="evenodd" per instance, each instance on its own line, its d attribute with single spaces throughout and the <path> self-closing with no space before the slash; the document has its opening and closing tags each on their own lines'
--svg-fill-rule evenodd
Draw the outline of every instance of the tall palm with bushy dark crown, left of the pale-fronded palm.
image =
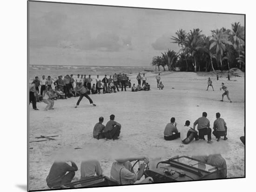
<svg viewBox="0 0 256 192">
<path fill-rule="evenodd" d="M 184 52 L 194 58 L 194 67 L 196 72 L 196 54 L 202 48 L 202 34 L 200 29 L 190 30 L 187 38 L 184 40 Z"/>
</svg>

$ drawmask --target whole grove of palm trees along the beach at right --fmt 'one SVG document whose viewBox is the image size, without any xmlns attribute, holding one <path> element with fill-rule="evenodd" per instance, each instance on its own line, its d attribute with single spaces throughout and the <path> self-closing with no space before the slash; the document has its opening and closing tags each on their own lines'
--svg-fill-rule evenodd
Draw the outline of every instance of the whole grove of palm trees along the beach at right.
<svg viewBox="0 0 256 192">
<path fill-rule="evenodd" d="M 245 70 L 244 26 L 232 23 L 231 30 L 222 27 L 211 31 L 211 36 L 202 34 L 200 29 L 185 32 L 180 29 L 171 37 L 180 50 L 162 52 L 152 59 L 152 65 L 168 70 L 177 67 L 182 71 L 211 71 L 239 68 Z"/>
</svg>

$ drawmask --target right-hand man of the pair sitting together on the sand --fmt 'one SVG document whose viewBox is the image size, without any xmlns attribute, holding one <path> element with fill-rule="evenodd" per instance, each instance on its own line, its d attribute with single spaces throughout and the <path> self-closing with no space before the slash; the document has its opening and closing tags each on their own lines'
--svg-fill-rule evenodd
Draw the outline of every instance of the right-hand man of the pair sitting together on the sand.
<svg viewBox="0 0 256 192">
<path fill-rule="evenodd" d="M 121 124 L 115 122 L 115 115 L 110 115 L 110 120 L 107 122 L 104 128 L 104 136 L 107 139 L 118 139 L 121 130 Z"/>
</svg>

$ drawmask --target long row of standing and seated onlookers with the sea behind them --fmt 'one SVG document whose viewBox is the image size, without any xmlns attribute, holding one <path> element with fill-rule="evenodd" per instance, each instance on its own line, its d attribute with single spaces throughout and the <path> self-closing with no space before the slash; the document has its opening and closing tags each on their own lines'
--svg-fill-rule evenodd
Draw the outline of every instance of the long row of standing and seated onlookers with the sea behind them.
<svg viewBox="0 0 256 192">
<path fill-rule="evenodd" d="M 159 74 L 160 76 L 160 74 Z M 67 99 L 70 97 L 80 96 L 81 93 L 77 90 L 82 87 L 86 88 L 86 94 L 103 94 L 105 93 L 116 93 L 121 89 L 121 91 L 126 91 L 127 86 L 131 87 L 131 90 L 150 90 L 150 85 L 146 82 L 145 74 L 141 77 L 140 73 L 137 76 L 138 85 L 131 87 L 131 83 L 126 74 L 114 74 L 113 76 L 105 75 L 102 79 L 97 75 L 95 78 L 95 83 L 91 75 L 88 77 L 86 75 L 73 75 L 58 76 L 57 79 L 53 79 L 51 76 L 47 78 L 43 75 L 41 79 L 35 77 L 33 82 L 29 86 L 29 102 L 32 102 L 33 109 L 38 110 L 36 107 L 36 102 L 45 102 L 47 107 L 45 110 L 53 109 L 53 100 L 57 99 Z M 142 80 L 142 85 L 141 85 Z M 159 83 L 159 89 L 162 89 L 162 82 Z"/>
</svg>

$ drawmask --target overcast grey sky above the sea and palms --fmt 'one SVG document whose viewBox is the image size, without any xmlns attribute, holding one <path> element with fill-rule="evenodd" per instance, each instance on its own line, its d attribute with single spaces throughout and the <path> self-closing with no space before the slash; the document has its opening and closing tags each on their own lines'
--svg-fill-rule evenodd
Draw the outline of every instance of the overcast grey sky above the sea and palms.
<svg viewBox="0 0 256 192">
<path fill-rule="evenodd" d="M 29 64 L 145 66 L 183 29 L 231 29 L 244 16 L 128 7 L 29 2 Z"/>
</svg>

